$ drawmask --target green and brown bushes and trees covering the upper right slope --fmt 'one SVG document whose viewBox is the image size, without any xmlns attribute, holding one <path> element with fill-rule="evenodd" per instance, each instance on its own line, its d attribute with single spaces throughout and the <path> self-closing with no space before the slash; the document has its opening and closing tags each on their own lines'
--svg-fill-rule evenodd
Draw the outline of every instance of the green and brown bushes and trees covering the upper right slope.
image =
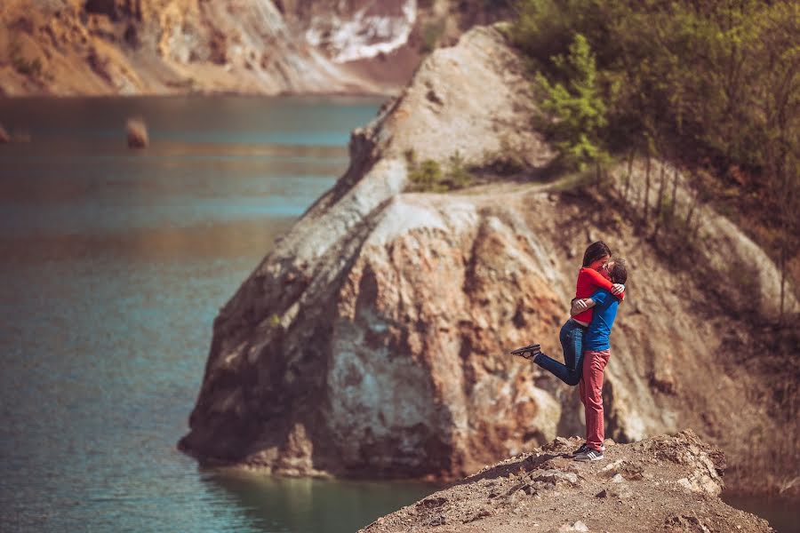
<svg viewBox="0 0 800 533">
<path fill-rule="evenodd" d="M 540 73 L 562 163 L 676 163 L 771 253 L 788 290 L 800 274 L 800 4 L 520 0 L 510 35 Z"/>
</svg>

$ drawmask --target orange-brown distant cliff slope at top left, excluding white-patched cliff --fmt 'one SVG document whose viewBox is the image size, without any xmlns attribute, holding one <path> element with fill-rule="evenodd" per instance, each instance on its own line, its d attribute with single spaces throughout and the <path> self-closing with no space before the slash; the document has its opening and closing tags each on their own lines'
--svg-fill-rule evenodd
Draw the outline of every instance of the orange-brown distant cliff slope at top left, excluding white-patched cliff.
<svg viewBox="0 0 800 533">
<path fill-rule="evenodd" d="M 269 0 L 26 4 L 4 9 L 0 40 L 42 68 L 3 68 L 8 94 L 380 91 L 298 38 Z"/>
</svg>

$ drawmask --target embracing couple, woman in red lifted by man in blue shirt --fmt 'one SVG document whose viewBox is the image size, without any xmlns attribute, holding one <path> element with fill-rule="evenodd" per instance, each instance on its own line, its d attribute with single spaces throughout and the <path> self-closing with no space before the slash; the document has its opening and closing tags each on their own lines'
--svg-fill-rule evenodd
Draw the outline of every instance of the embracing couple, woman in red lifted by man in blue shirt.
<svg viewBox="0 0 800 533">
<path fill-rule="evenodd" d="M 571 317 L 559 334 L 564 364 L 543 354 L 540 345 L 525 346 L 512 354 L 522 355 L 570 386 L 579 386 L 586 414 L 586 442 L 575 451 L 578 461 L 603 458 L 603 371 L 611 355 L 609 338 L 617 307 L 625 298 L 628 270 L 624 259 L 612 259 L 602 241 L 592 243 L 583 254 Z"/>
</svg>

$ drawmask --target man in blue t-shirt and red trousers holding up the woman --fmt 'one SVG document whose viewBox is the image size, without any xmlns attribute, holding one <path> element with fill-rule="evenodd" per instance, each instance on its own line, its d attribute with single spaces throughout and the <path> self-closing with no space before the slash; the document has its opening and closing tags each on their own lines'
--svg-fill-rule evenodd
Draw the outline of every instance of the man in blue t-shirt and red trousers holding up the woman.
<svg viewBox="0 0 800 533">
<path fill-rule="evenodd" d="M 612 259 L 604 267 L 612 282 L 628 281 L 624 259 Z M 591 298 L 572 302 L 570 314 L 594 307 L 592 322 L 583 337 L 583 374 L 580 378 L 580 402 L 586 414 L 586 443 L 575 453 L 577 461 L 596 461 L 603 457 L 603 371 L 611 356 L 611 330 L 620 300 L 608 290 L 597 290 Z"/>
</svg>

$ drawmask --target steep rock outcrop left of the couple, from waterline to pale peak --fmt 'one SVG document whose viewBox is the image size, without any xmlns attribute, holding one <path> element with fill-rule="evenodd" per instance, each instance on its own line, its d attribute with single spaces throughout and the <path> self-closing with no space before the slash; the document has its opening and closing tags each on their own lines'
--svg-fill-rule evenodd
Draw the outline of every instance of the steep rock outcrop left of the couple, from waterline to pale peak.
<svg viewBox="0 0 800 533">
<path fill-rule="evenodd" d="M 412 114 L 437 65 L 452 70 L 436 79 L 449 103 Z M 222 310 L 186 449 L 284 472 L 299 424 L 309 472 L 447 477 L 555 436 L 558 402 L 501 346 L 560 319 L 538 237 L 491 202 L 398 195 L 404 152 L 435 155 L 428 139 L 449 128 L 472 160 L 500 146 L 498 121 L 532 111 L 508 106 L 531 101 L 521 66 L 482 28 L 415 79 L 354 133 L 351 168 Z M 470 108 L 484 113 L 467 122 Z M 533 131 L 518 141 L 533 162 L 552 157 Z"/>
</svg>

